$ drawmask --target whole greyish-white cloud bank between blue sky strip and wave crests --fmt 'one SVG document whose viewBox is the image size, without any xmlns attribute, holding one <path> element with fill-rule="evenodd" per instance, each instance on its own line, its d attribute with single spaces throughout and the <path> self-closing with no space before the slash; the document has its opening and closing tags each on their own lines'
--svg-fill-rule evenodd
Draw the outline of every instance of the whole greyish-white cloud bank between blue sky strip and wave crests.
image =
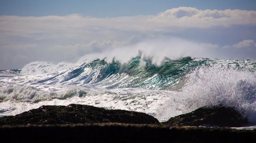
<svg viewBox="0 0 256 143">
<path fill-rule="evenodd" d="M 256 60 L 253 31 L 256 11 L 244 10 L 179 7 L 156 15 L 126 17 L 0 16 L 0 69 L 22 68 L 35 60 L 76 62 L 91 53 L 113 55 L 122 49 L 137 52 L 138 48 L 171 59 L 200 56 Z M 157 52 L 160 49 L 166 55 Z"/>
</svg>

